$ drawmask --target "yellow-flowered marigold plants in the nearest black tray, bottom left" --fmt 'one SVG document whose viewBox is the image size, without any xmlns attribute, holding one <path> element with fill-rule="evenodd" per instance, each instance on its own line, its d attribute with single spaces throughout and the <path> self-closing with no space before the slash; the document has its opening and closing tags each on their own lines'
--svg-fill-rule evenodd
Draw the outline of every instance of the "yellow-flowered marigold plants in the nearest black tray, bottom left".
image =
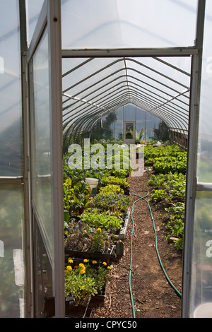
<svg viewBox="0 0 212 332">
<path fill-rule="evenodd" d="M 110 266 L 103 262 L 84 259 L 83 263 L 76 265 L 72 259 L 68 259 L 65 269 L 65 295 L 71 295 L 75 302 L 86 300 L 97 294 L 107 282 Z"/>
</svg>

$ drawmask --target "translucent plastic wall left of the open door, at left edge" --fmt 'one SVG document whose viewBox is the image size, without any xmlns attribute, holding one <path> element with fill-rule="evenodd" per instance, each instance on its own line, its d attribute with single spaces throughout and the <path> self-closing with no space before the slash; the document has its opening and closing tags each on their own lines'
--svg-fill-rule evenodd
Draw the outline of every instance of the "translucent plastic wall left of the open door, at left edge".
<svg viewBox="0 0 212 332">
<path fill-rule="evenodd" d="M 23 171 L 18 1 L 0 1 L 0 177 Z M 0 317 L 23 316 L 23 186 L 0 185 Z"/>
</svg>

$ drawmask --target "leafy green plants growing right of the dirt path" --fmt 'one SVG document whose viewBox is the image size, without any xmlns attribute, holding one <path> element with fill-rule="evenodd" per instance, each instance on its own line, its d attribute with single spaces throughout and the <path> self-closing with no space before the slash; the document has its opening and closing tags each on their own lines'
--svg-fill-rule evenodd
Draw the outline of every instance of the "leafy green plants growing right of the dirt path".
<svg viewBox="0 0 212 332">
<path fill-rule="evenodd" d="M 164 209 L 167 238 L 174 237 L 175 247 L 182 249 L 187 152 L 175 145 L 146 146 L 144 155 L 145 165 L 154 171 L 148 181 L 153 187 L 150 201 Z"/>
</svg>

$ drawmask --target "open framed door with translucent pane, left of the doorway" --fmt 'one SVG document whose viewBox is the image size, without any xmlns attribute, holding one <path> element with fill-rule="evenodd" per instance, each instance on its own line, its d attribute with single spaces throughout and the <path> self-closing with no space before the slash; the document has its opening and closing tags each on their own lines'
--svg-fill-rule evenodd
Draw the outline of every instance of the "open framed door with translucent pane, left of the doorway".
<svg viewBox="0 0 212 332">
<path fill-rule="evenodd" d="M 46 0 L 28 49 L 33 316 L 64 316 L 60 1 Z"/>
</svg>

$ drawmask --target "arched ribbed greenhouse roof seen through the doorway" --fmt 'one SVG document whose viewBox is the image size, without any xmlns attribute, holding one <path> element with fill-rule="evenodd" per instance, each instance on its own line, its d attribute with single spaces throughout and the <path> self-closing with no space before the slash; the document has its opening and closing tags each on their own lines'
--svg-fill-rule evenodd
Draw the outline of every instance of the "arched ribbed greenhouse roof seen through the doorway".
<svg viewBox="0 0 212 332">
<path fill-rule="evenodd" d="M 68 57 L 67 52 L 70 53 L 63 52 L 64 57 Z M 193 52 L 192 48 L 187 57 Z M 99 57 L 82 59 L 81 64 L 73 65 L 63 73 L 64 137 L 91 131 L 98 119 L 127 104 L 136 105 L 163 119 L 170 128 L 187 133 L 189 72 L 169 63 L 167 57 L 165 60 L 160 57 L 151 57 L 151 60 L 146 57 L 109 57 L 107 61 L 104 57 L 102 62 L 107 64 L 101 66 Z M 163 73 L 160 66 L 169 69 L 172 75 Z M 86 75 L 80 73 L 78 76 L 78 71 L 83 69 Z M 75 81 L 77 77 L 78 81 Z"/>
</svg>

